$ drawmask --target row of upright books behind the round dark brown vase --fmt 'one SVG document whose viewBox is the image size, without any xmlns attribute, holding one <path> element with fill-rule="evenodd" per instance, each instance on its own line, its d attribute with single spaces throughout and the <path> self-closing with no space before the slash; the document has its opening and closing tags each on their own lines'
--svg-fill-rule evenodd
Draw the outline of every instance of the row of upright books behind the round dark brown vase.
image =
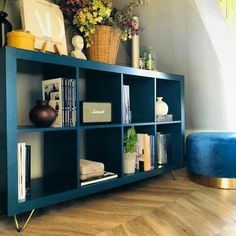
<svg viewBox="0 0 236 236">
<path fill-rule="evenodd" d="M 55 78 L 42 81 L 43 100 L 57 111 L 52 127 L 76 126 L 76 80 Z"/>
</svg>

